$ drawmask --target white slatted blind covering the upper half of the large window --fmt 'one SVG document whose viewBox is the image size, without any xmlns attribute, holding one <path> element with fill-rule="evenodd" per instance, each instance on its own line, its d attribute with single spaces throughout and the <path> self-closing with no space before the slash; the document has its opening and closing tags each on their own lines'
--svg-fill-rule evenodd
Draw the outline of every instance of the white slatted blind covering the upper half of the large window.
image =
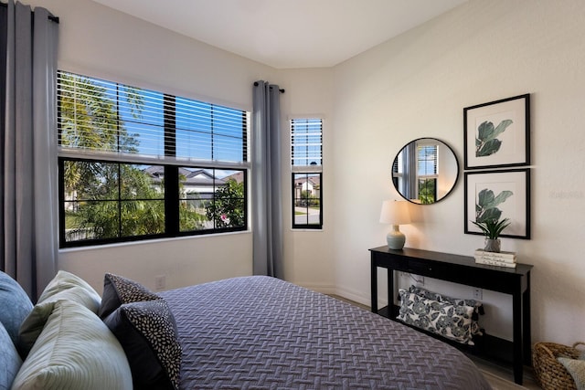
<svg viewBox="0 0 585 390">
<path fill-rule="evenodd" d="M 61 155 L 245 164 L 250 113 L 58 71 Z M 122 157 L 124 156 L 124 157 Z"/>
</svg>

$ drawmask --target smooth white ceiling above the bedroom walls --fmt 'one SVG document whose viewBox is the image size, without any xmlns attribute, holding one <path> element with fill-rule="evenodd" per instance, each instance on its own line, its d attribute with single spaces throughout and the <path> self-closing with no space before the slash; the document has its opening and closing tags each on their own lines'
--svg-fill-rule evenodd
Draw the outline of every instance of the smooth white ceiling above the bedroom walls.
<svg viewBox="0 0 585 390">
<path fill-rule="evenodd" d="M 332 67 L 467 0 L 93 0 L 277 69 Z"/>
</svg>

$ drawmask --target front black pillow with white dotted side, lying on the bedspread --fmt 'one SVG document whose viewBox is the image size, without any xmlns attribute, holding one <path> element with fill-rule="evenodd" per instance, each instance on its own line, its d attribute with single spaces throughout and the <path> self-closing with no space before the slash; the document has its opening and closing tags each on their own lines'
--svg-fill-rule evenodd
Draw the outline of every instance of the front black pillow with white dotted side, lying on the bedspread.
<svg viewBox="0 0 585 390">
<path fill-rule="evenodd" d="M 124 303 L 104 322 L 128 357 L 134 388 L 178 389 L 182 350 L 165 300 Z"/>
</svg>

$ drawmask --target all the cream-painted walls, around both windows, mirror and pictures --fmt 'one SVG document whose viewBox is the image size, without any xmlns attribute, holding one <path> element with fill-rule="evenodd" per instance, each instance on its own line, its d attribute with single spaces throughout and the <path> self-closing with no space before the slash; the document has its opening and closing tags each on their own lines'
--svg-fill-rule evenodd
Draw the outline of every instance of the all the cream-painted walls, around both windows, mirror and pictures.
<svg viewBox="0 0 585 390">
<path fill-rule="evenodd" d="M 291 231 L 285 207 L 285 276 L 315 290 L 369 302 L 367 248 L 385 242 L 379 207 L 399 198 L 390 166 L 413 139 L 435 137 L 463 159 L 463 107 L 530 93 L 532 239 L 503 239 L 535 265 L 533 340 L 585 339 L 585 3 L 471 0 L 333 69 L 276 70 L 125 16 L 89 0 L 34 0 L 60 17 L 61 69 L 250 110 L 250 85 L 269 79 L 282 95 L 282 153 L 287 119 L 324 117 L 324 229 Z M 284 205 L 290 203 L 283 163 Z M 354 185 L 352 185 L 354 184 Z M 365 190 L 366 189 L 366 190 Z M 463 234 L 463 174 L 452 195 L 416 206 L 421 222 L 403 227 L 407 246 L 471 255 L 482 237 Z M 251 233 L 142 242 L 59 253 L 63 269 L 101 289 L 106 270 L 154 288 L 251 273 Z M 471 290 L 427 280 L 463 296 Z M 484 291 L 509 336 L 507 298 Z"/>
</svg>

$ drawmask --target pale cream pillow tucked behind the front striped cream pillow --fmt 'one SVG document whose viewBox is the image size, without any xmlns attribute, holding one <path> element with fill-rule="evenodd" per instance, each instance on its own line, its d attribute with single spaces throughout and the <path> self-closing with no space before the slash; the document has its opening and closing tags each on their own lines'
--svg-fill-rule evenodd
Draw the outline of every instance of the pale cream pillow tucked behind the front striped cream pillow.
<svg viewBox="0 0 585 390">
<path fill-rule="evenodd" d="M 42 332 L 53 306 L 58 300 L 71 300 L 97 313 L 100 308 L 100 294 L 85 280 L 72 273 L 60 270 L 43 290 L 37 304 L 28 314 L 18 332 L 18 352 L 27 357 L 37 337 Z"/>
</svg>

